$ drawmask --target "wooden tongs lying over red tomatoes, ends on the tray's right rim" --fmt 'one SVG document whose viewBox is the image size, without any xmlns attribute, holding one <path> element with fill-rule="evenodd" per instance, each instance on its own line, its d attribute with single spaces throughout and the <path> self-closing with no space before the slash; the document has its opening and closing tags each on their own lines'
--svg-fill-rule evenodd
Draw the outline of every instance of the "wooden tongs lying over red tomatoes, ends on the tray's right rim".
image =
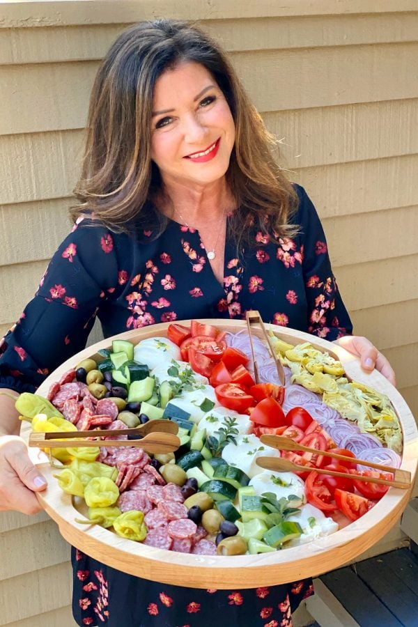
<svg viewBox="0 0 418 627">
<path fill-rule="evenodd" d="M 380 479 L 380 477 L 364 477 L 362 474 L 339 472 L 337 470 L 323 470 L 322 468 L 311 469 L 318 472 L 318 474 L 330 474 L 332 477 L 346 477 L 348 479 L 356 479 L 358 481 L 368 481 L 369 483 L 381 483 L 385 486 L 392 486 L 393 488 L 401 488 L 403 490 L 408 490 L 411 487 L 411 474 L 407 470 L 400 470 L 399 468 L 369 462 L 364 459 L 339 455 L 333 453 L 332 450 L 319 451 L 318 449 L 311 449 L 311 447 L 304 447 L 302 444 L 291 440 L 291 438 L 284 438 L 280 435 L 261 435 L 260 439 L 263 444 L 266 444 L 268 447 L 273 447 L 274 449 L 280 449 L 281 451 L 307 451 L 308 453 L 324 455 L 337 460 L 348 461 L 353 464 L 361 464 L 376 468 L 376 470 L 379 470 L 380 472 L 392 472 L 394 478 Z M 291 460 L 277 457 L 258 457 L 256 458 L 256 464 L 266 470 L 277 470 L 279 472 L 306 472 L 309 470 L 307 466 L 295 464 Z"/>
</svg>

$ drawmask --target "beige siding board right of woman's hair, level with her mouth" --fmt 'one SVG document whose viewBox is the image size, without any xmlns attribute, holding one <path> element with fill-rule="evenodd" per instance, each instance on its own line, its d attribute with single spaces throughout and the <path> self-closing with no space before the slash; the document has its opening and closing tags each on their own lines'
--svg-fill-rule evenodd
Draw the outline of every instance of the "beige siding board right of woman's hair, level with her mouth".
<svg viewBox="0 0 418 627">
<path fill-rule="evenodd" d="M 274 111 L 263 119 L 289 169 L 418 153 L 418 99 Z"/>
</svg>

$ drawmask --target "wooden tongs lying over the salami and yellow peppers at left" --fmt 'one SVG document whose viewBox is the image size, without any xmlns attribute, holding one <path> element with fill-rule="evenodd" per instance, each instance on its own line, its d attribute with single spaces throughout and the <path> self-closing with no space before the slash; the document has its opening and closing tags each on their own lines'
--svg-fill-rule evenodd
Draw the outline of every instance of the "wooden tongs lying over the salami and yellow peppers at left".
<svg viewBox="0 0 418 627">
<path fill-rule="evenodd" d="M 52 431 L 31 433 L 29 447 L 59 449 L 66 447 L 139 447 L 146 453 L 171 453 L 180 446 L 178 424 L 171 420 L 149 420 L 130 429 L 93 429 L 91 431 Z M 127 435 L 127 440 L 111 439 Z M 109 438 L 102 440 L 101 438 Z M 131 439 L 132 438 L 132 439 Z"/>
</svg>

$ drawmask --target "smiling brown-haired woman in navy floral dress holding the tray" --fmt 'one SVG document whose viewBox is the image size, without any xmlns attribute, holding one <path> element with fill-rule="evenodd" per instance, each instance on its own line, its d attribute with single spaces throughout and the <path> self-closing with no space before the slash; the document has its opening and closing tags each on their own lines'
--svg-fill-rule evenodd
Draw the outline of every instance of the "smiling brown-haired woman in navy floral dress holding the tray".
<svg viewBox="0 0 418 627">
<path fill-rule="evenodd" d="M 15 394 L 105 336 L 183 318 L 263 319 L 393 371 L 351 324 L 316 211 L 284 177 L 235 72 L 208 36 L 161 20 L 127 29 L 98 71 L 75 229 L 0 348 L 0 499 L 38 511 L 45 481 L 17 438 Z M 8 391 L 7 391 L 8 390 Z M 13 391 L 13 392 L 12 392 Z M 10 398 L 9 398 L 10 396 Z M 310 582 L 214 591 L 132 578 L 73 551 L 77 624 L 291 625 Z"/>
</svg>

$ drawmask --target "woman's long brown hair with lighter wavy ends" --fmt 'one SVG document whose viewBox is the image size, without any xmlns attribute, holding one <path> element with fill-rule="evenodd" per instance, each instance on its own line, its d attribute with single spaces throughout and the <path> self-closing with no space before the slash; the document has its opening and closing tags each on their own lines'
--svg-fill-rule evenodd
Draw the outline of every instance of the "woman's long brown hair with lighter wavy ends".
<svg viewBox="0 0 418 627">
<path fill-rule="evenodd" d="M 226 180 L 236 205 L 230 222 L 235 240 L 250 224 L 284 237 L 297 203 L 291 183 L 274 161 L 273 137 L 249 102 L 226 54 L 201 29 L 177 20 L 141 22 L 121 33 L 104 57 L 91 92 L 82 175 L 75 188 L 86 212 L 113 231 L 128 231 L 160 190 L 150 158 L 153 92 L 157 78 L 182 61 L 203 65 L 215 78 L 235 122 L 235 146 Z M 159 212 L 158 212 L 159 213 Z M 157 216 L 161 233 L 167 219 Z"/>
</svg>

